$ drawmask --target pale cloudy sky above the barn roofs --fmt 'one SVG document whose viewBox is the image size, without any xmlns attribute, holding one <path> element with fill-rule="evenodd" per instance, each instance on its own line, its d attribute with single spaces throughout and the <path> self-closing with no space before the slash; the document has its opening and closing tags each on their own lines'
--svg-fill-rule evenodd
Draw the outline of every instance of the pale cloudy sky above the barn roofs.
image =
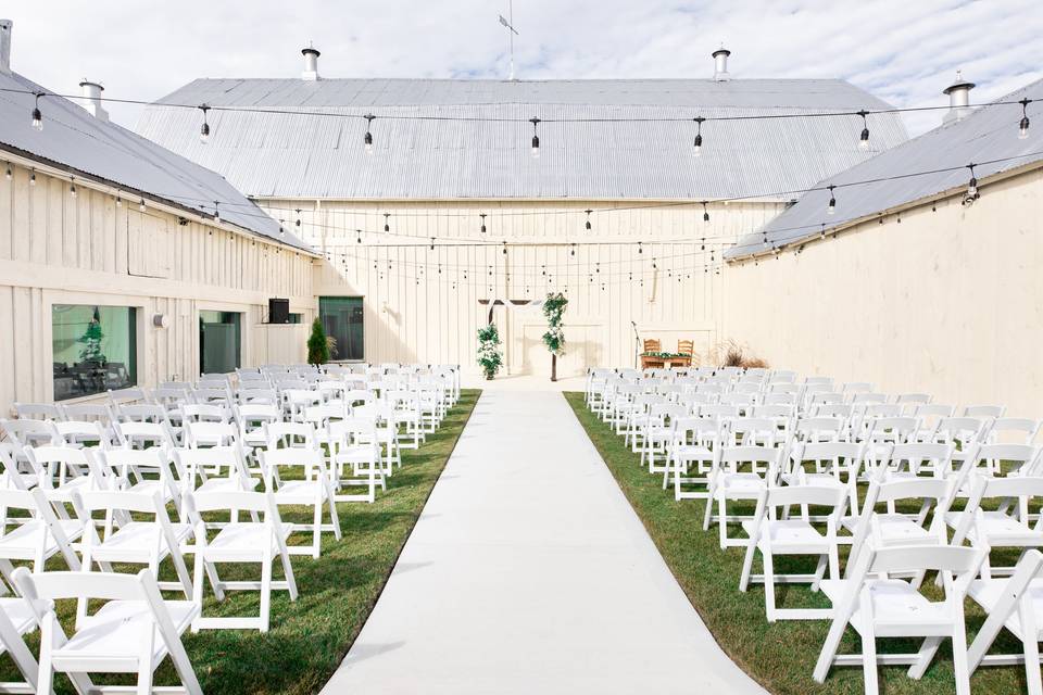
<svg viewBox="0 0 1043 695">
<path fill-rule="evenodd" d="M 300 49 L 327 77 L 507 74 L 507 0 L 4 0 L 12 66 L 59 92 L 156 99 L 196 77 L 291 77 Z M 523 79 L 841 77 L 901 106 L 941 105 L 956 71 L 973 101 L 1043 78 L 1039 0 L 515 0 Z M 112 105 L 133 126 L 138 109 Z M 910 132 L 938 112 L 907 117 Z"/>
</svg>

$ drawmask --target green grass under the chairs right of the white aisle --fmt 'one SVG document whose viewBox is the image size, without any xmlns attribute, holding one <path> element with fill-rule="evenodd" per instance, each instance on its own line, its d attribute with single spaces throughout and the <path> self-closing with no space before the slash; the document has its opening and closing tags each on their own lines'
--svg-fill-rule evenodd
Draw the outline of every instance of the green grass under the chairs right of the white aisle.
<svg viewBox="0 0 1043 695">
<path fill-rule="evenodd" d="M 673 489 L 662 489 L 662 476 L 649 475 L 648 469 L 639 465 L 640 456 L 624 445 L 623 438 L 585 407 L 582 393 L 566 393 L 565 399 L 695 610 L 721 648 L 744 671 L 774 693 L 863 693 L 860 668 L 834 667 L 821 685 L 812 680 L 815 661 L 829 629 L 828 621 L 779 621 L 769 624 L 765 618 L 764 587 L 754 584 L 747 593 L 739 591 L 742 548 L 722 551 L 718 545 L 716 528 L 708 532 L 702 530 L 704 503 L 675 501 Z M 741 510 L 741 506 L 736 505 L 736 509 Z M 998 559 L 998 556 L 994 558 Z M 1004 559 L 1006 561 L 1003 564 L 1013 564 L 1009 556 Z M 813 568 L 814 560 L 810 558 L 776 560 L 776 571 L 780 572 L 809 572 Z M 757 560 L 754 563 L 754 572 L 758 571 Z M 829 606 L 821 595 L 812 593 L 801 584 L 777 585 L 777 596 L 780 607 Z M 970 601 L 966 608 L 969 645 L 984 621 L 984 615 Z M 917 646 L 918 642 L 908 640 L 878 641 L 878 650 L 881 653 L 914 652 Z M 841 652 L 859 650 L 857 635 L 849 629 Z M 1020 643 L 1004 631 L 993 652 L 1020 653 Z M 920 681 L 907 678 L 902 667 L 887 667 L 879 672 L 880 691 L 888 695 L 942 694 L 954 690 L 952 652 L 947 641 Z M 971 688 L 975 693 L 1023 693 L 1025 671 L 1020 666 L 981 668 L 971 678 Z"/>
</svg>

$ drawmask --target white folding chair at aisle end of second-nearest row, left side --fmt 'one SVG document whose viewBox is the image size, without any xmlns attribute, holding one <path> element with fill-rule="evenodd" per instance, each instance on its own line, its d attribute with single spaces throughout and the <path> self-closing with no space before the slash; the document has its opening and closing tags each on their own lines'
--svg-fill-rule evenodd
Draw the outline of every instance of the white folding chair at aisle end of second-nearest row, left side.
<svg viewBox="0 0 1043 695">
<path fill-rule="evenodd" d="M 194 556 L 192 576 L 192 599 L 203 605 L 204 579 L 209 578 L 218 602 L 225 599 L 226 591 L 260 592 L 260 615 L 256 617 L 210 617 L 200 615 L 192 621 L 192 632 L 199 630 L 231 629 L 268 631 L 272 611 L 272 591 L 281 590 L 290 594 L 290 601 L 297 601 L 297 582 L 286 540 L 292 527 L 284 526 L 279 509 L 271 492 L 210 492 L 189 493 L 185 505 L 191 523 L 196 527 L 196 543 L 186 548 Z M 222 525 L 213 539 L 206 538 L 206 525 L 202 514 L 228 511 L 229 521 Z M 263 515 L 263 520 L 239 521 L 238 514 L 249 511 L 254 518 Z M 272 565 L 278 559 L 282 566 L 285 579 L 272 578 Z M 223 580 L 217 573 L 221 564 L 261 564 L 261 579 Z M 205 578 L 204 578 L 205 572 Z"/>
</svg>

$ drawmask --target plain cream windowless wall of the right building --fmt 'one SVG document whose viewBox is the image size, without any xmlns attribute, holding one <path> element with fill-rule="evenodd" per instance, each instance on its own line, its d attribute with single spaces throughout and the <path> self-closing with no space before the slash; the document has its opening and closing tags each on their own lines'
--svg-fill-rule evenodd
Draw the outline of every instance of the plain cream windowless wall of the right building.
<svg viewBox="0 0 1043 695">
<path fill-rule="evenodd" d="M 901 218 L 901 223 L 899 222 Z M 1043 417 L 1043 170 L 725 271 L 730 338 L 774 367 Z"/>
</svg>

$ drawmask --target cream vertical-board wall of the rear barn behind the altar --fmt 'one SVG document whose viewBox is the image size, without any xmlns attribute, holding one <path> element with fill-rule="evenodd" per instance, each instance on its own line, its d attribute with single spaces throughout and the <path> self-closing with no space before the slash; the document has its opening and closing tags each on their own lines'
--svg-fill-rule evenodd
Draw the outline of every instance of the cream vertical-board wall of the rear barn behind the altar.
<svg viewBox="0 0 1043 695">
<path fill-rule="evenodd" d="M 479 300 L 538 299 L 555 290 L 569 299 L 561 376 L 588 366 L 631 364 L 631 320 L 643 337 L 661 338 L 666 350 L 674 350 L 679 338 L 708 350 L 718 339 L 721 303 L 719 277 L 714 269 L 704 271 L 711 251 L 719 265 L 724 241 L 756 229 L 780 210 L 777 203 L 711 204 L 707 224 L 698 203 L 630 208 L 650 201 L 261 204 L 328 256 L 316 294 L 365 298 L 367 361 L 460 363 L 474 371 L 475 331 L 488 318 Z M 606 206 L 623 210 L 593 214 L 587 230 L 583 211 Z M 386 212 L 391 233 L 382 232 Z M 480 213 L 488 214 L 485 235 Z M 368 230 L 361 244 L 356 229 Z M 437 238 L 433 251 L 430 237 Z M 506 255 L 504 239 L 512 244 Z M 487 247 L 474 245 L 490 240 Z M 641 253 L 633 243 L 612 245 L 638 240 Z M 573 256 L 574 242 L 605 244 L 578 245 Z M 508 374 L 550 372 L 540 341 L 545 320 L 538 311 L 498 308 L 495 321 Z"/>
</svg>

